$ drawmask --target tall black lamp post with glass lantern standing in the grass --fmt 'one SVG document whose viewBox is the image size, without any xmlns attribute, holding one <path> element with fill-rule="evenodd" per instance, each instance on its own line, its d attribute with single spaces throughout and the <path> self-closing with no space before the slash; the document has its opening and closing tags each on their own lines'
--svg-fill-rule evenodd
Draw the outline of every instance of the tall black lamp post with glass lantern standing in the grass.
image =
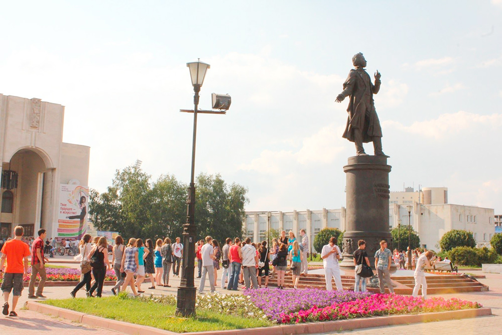
<svg viewBox="0 0 502 335">
<path fill-rule="evenodd" d="M 192 137 L 192 171 L 190 176 L 190 186 L 188 187 L 187 197 L 187 220 L 183 225 L 183 266 L 181 269 L 181 283 L 178 287 L 178 301 L 176 304 L 176 315 L 193 316 L 195 315 L 195 285 L 194 285 L 194 266 L 195 266 L 195 138 L 197 134 L 197 106 L 199 104 L 199 91 L 209 64 L 201 61 L 187 63 L 190 69 L 190 77 L 193 85 L 193 137 Z"/>
</svg>

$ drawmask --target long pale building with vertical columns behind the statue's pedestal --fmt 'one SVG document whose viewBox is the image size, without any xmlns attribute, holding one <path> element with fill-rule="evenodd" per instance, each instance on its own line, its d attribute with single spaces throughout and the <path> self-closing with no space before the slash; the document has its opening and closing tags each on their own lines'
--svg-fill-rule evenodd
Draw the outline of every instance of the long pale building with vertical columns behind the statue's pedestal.
<svg viewBox="0 0 502 335">
<path fill-rule="evenodd" d="M 407 206 L 411 207 L 410 215 Z M 344 207 L 292 212 L 246 212 L 242 223 L 253 242 L 265 239 L 269 215 L 272 229 L 286 232 L 293 230 L 297 236 L 302 228 L 305 229 L 311 244 L 310 250 L 321 229 L 338 228 L 345 231 Z M 404 192 L 391 192 L 389 229 L 398 227 L 399 220 L 401 229 L 407 229 L 411 221 L 412 228 L 420 236 L 421 246 L 436 251 L 439 251 L 438 244 L 443 234 L 453 229 L 472 232 L 478 247 L 489 247 L 495 233 L 493 209 L 449 204 L 446 187 L 424 187 L 421 191 L 409 187 Z M 401 247 L 404 249 L 405 246 Z"/>
</svg>

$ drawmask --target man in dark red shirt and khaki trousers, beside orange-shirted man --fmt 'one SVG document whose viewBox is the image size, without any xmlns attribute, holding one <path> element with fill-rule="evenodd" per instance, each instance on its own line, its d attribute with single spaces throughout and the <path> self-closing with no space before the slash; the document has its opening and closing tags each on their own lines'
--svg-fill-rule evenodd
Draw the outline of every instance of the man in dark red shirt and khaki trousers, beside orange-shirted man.
<svg viewBox="0 0 502 335">
<path fill-rule="evenodd" d="M 45 298 L 42 294 L 44 290 L 47 273 L 45 272 L 45 263 L 49 260 L 44 256 L 44 240 L 47 237 L 45 229 L 38 230 L 38 238 L 32 244 L 32 276 L 30 278 L 30 285 L 28 286 L 28 298 L 37 299 Z M 35 281 L 37 274 L 40 274 L 40 282 L 37 287 L 37 295 L 35 295 Z"/>
</svg>

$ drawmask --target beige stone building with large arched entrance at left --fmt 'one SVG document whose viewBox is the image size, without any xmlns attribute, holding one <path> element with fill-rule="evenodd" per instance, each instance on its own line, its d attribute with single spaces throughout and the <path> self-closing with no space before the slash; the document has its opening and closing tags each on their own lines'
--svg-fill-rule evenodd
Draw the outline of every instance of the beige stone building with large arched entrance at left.
<svg viewBox="0 0 502 335">
<path fill-rule="evenodd" d="M 12 237 L 17 225 L 25 236 L 43 228 L 48 238 L 75 235 L 70 231 L 82 226 L 67 216 L 84 213 L 79 185 L 88 182 L 90 148 L 62 142 L 63 120 L 60 104 L 0 94 L 0 238 Z M 80 191 L 65 198 L 64 186 Z"/>
</svg>

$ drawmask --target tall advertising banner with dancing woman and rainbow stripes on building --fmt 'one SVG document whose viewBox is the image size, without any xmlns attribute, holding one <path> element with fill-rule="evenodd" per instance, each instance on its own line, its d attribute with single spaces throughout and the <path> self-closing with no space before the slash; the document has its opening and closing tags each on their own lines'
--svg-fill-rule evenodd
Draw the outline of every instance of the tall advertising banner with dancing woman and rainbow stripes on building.
<svg viewBox="0 0 502 335">
<path fill-rule="evenodd" d="M 80 240 L 87 231 L 89 188 L 61 184 L 59 190 L 58 237 Z"/>
</svg>

